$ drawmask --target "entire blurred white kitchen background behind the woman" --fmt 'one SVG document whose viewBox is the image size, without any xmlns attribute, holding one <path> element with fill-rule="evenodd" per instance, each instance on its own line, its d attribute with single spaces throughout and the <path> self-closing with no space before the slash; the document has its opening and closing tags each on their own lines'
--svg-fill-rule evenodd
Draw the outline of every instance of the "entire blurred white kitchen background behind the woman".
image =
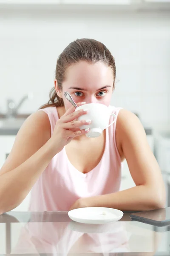
<svg viewBox="0 0 170 256">
<path fill-rule="evenodd" d="M 58 55 L 77 38 L 102 41 L 115 57 L 111 104 L 139 116 L 170 206 L 170 0 L 0 0 L 0 167 L 23 121 L 48 101 Z M 125 163 L 121 189 L 130 186 Z"/>
</svg>

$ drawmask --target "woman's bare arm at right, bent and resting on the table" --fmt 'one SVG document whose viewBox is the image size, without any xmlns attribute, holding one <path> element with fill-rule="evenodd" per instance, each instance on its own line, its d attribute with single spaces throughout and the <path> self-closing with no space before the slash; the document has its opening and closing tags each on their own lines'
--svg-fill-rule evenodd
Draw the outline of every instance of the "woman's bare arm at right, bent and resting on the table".
<svg viewBox="0 0 170 256">
<path fill-rule="evenodd" d="M 118 139 L 118 140 L 117 140 Z M 119 141 L 136 187 L 108 195 L 79 199 L 72 208 L 111 207 L 126 211 L 163 208 L 165 188 L 159 165 L 147 143 L 141 122 L 135 114 L 122 109 L 116 123 Z"/>
</svg>

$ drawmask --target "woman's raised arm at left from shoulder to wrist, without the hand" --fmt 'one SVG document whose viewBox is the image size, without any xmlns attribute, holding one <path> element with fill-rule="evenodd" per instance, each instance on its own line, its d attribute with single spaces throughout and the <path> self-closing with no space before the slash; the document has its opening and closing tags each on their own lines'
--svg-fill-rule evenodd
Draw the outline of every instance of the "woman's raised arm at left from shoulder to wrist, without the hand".
<svg viewBox="0 0 170 256">
<path fill-rule="evenodd" d="M 54 157 L 50 122 L 38 111 L 24 122 L 0 169 L 0 214 L 17 207 Z"/>
</svg>

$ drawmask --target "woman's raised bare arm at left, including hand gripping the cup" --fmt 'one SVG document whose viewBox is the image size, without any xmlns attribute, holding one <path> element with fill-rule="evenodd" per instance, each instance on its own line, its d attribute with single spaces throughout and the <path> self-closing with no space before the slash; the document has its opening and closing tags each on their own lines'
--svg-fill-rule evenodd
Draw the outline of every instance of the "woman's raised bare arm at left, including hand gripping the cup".
<svg viewBox="0 0 170 256">
<path fill-rule="evenodd" d="M 17 207 L 28 195 L 51 159 L 74 137 L 88 131 L 77 121 L 86 112 L 74 112 L 72 106 L 56 122 L 53 134 L 46 113 L 37 111 L 28 117 L 17 134 L 12 150 L 0 169 L 0 214 Z"/>
</svg>

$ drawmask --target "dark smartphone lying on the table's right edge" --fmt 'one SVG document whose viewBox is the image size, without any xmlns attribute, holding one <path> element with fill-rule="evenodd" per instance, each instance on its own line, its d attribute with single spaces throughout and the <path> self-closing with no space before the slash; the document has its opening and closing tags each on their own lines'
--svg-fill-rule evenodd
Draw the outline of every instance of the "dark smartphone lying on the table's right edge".
<svg viewBox="0 0 170 256">
<path fill-rule="evenodd" d="M 133 221 L 140 221 L 158 227 L 170 225 L 170 207 L 131 213 L 130 218 Z"/>
</svg>

